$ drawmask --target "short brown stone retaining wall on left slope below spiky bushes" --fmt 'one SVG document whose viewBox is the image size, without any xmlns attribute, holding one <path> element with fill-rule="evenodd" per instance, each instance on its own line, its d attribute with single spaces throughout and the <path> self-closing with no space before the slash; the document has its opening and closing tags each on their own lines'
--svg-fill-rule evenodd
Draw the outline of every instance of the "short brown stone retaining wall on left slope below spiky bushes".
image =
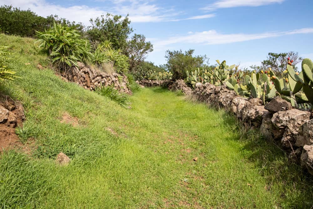
<svg viewBox="0 0 313 209">
<path fill-rule="evenodd" d="M 77 83 L 85 89 L 95 90 L 97 87 L 114 85 L 114 88 L 126 94 L 132 94 L 127 87 L 127 77 L 120 74 L 107 74 L 78 63 L 78 67 L 70 68 L 63 75 L 68 81 Z"/>
</svg>

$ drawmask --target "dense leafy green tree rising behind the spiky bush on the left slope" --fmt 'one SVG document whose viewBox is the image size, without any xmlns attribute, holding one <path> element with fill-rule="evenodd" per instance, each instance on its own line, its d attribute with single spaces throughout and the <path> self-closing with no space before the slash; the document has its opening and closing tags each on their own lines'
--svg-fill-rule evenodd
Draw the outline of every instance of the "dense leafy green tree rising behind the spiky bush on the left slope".
<svg viewBox="0 0 313 209">
<path fill-rule="evenodd" d="M 109 40 L 113 49 L 125 51 L 128 36 L 133 32 L 129 25 L 131 21 L 128 15 L 123 19 L 120 15 L 107 13 L 106 16 L 101 15 L 95 19 L 91 18 L 90 23 L 91 26 L 88 27 L 87 36 L 94 43 L 93 45 Z"/>
</svg>

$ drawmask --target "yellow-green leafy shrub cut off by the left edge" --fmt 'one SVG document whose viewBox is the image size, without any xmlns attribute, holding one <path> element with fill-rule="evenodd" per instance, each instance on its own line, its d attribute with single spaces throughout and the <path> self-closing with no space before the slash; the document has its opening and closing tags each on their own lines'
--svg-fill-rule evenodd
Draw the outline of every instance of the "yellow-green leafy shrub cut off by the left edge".
<svg viewBox="0 0 313 209">
<path fill-rule="evenodd" d="M 13 68 L 9 65 L 12 59 L 8 57 L 10 53 L 7 48 L 7 46 L 0 47 L 0 83 L 4 80 L 14 80 L 14 78 L 18 78 L 18 76 L 15 76 L 16 72 L 13 71 Z"/>
</svg>

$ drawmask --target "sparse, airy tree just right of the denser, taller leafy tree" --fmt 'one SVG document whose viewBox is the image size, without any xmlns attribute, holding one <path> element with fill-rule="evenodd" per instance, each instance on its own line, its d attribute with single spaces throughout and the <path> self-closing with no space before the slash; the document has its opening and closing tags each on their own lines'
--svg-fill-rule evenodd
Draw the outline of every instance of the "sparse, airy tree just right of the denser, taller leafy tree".
<svg viewBox="0 0 313 209">
<path fill-rule="evenodd" d="M 142 34 L 134 34 L 127 42 L 126 53 L 129 56 L 130 69 L 134 70 L 146 59 L 146 55 L 153 51 L 150 41 L 146 42 L 146 37 Z"/>
</svg>

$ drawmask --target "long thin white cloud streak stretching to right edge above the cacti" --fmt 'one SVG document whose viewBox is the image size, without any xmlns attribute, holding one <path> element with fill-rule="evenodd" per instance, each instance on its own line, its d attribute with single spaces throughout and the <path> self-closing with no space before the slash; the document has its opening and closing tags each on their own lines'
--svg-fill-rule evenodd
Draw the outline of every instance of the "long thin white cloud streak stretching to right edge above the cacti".
<svg viewBox="0 0 313 209">
<path fill-rule="evenodd" d="M 155 41 L 153 44 L 155 48 L 163 49 L 164 47 L 177 44 L 177 43 L 189 43 L 189 44 L 202 44 L 202 45 L 212 45 L 212 44 L 229 44 L 235 42 L 243 42 L 256 39 L 265 39 L 272 37 L 279 37 L 284 35 L 293 34 L 311 34 L 313 33 L 313 28 L 303 28 L 291 31 L 283 32 L 265 32 L 259 34 L 221 34 L 215 30 L 203 31 L 203 32 L 188 32 L 184 36 L 173 36 L 166 40 Z"/>
</svg>

